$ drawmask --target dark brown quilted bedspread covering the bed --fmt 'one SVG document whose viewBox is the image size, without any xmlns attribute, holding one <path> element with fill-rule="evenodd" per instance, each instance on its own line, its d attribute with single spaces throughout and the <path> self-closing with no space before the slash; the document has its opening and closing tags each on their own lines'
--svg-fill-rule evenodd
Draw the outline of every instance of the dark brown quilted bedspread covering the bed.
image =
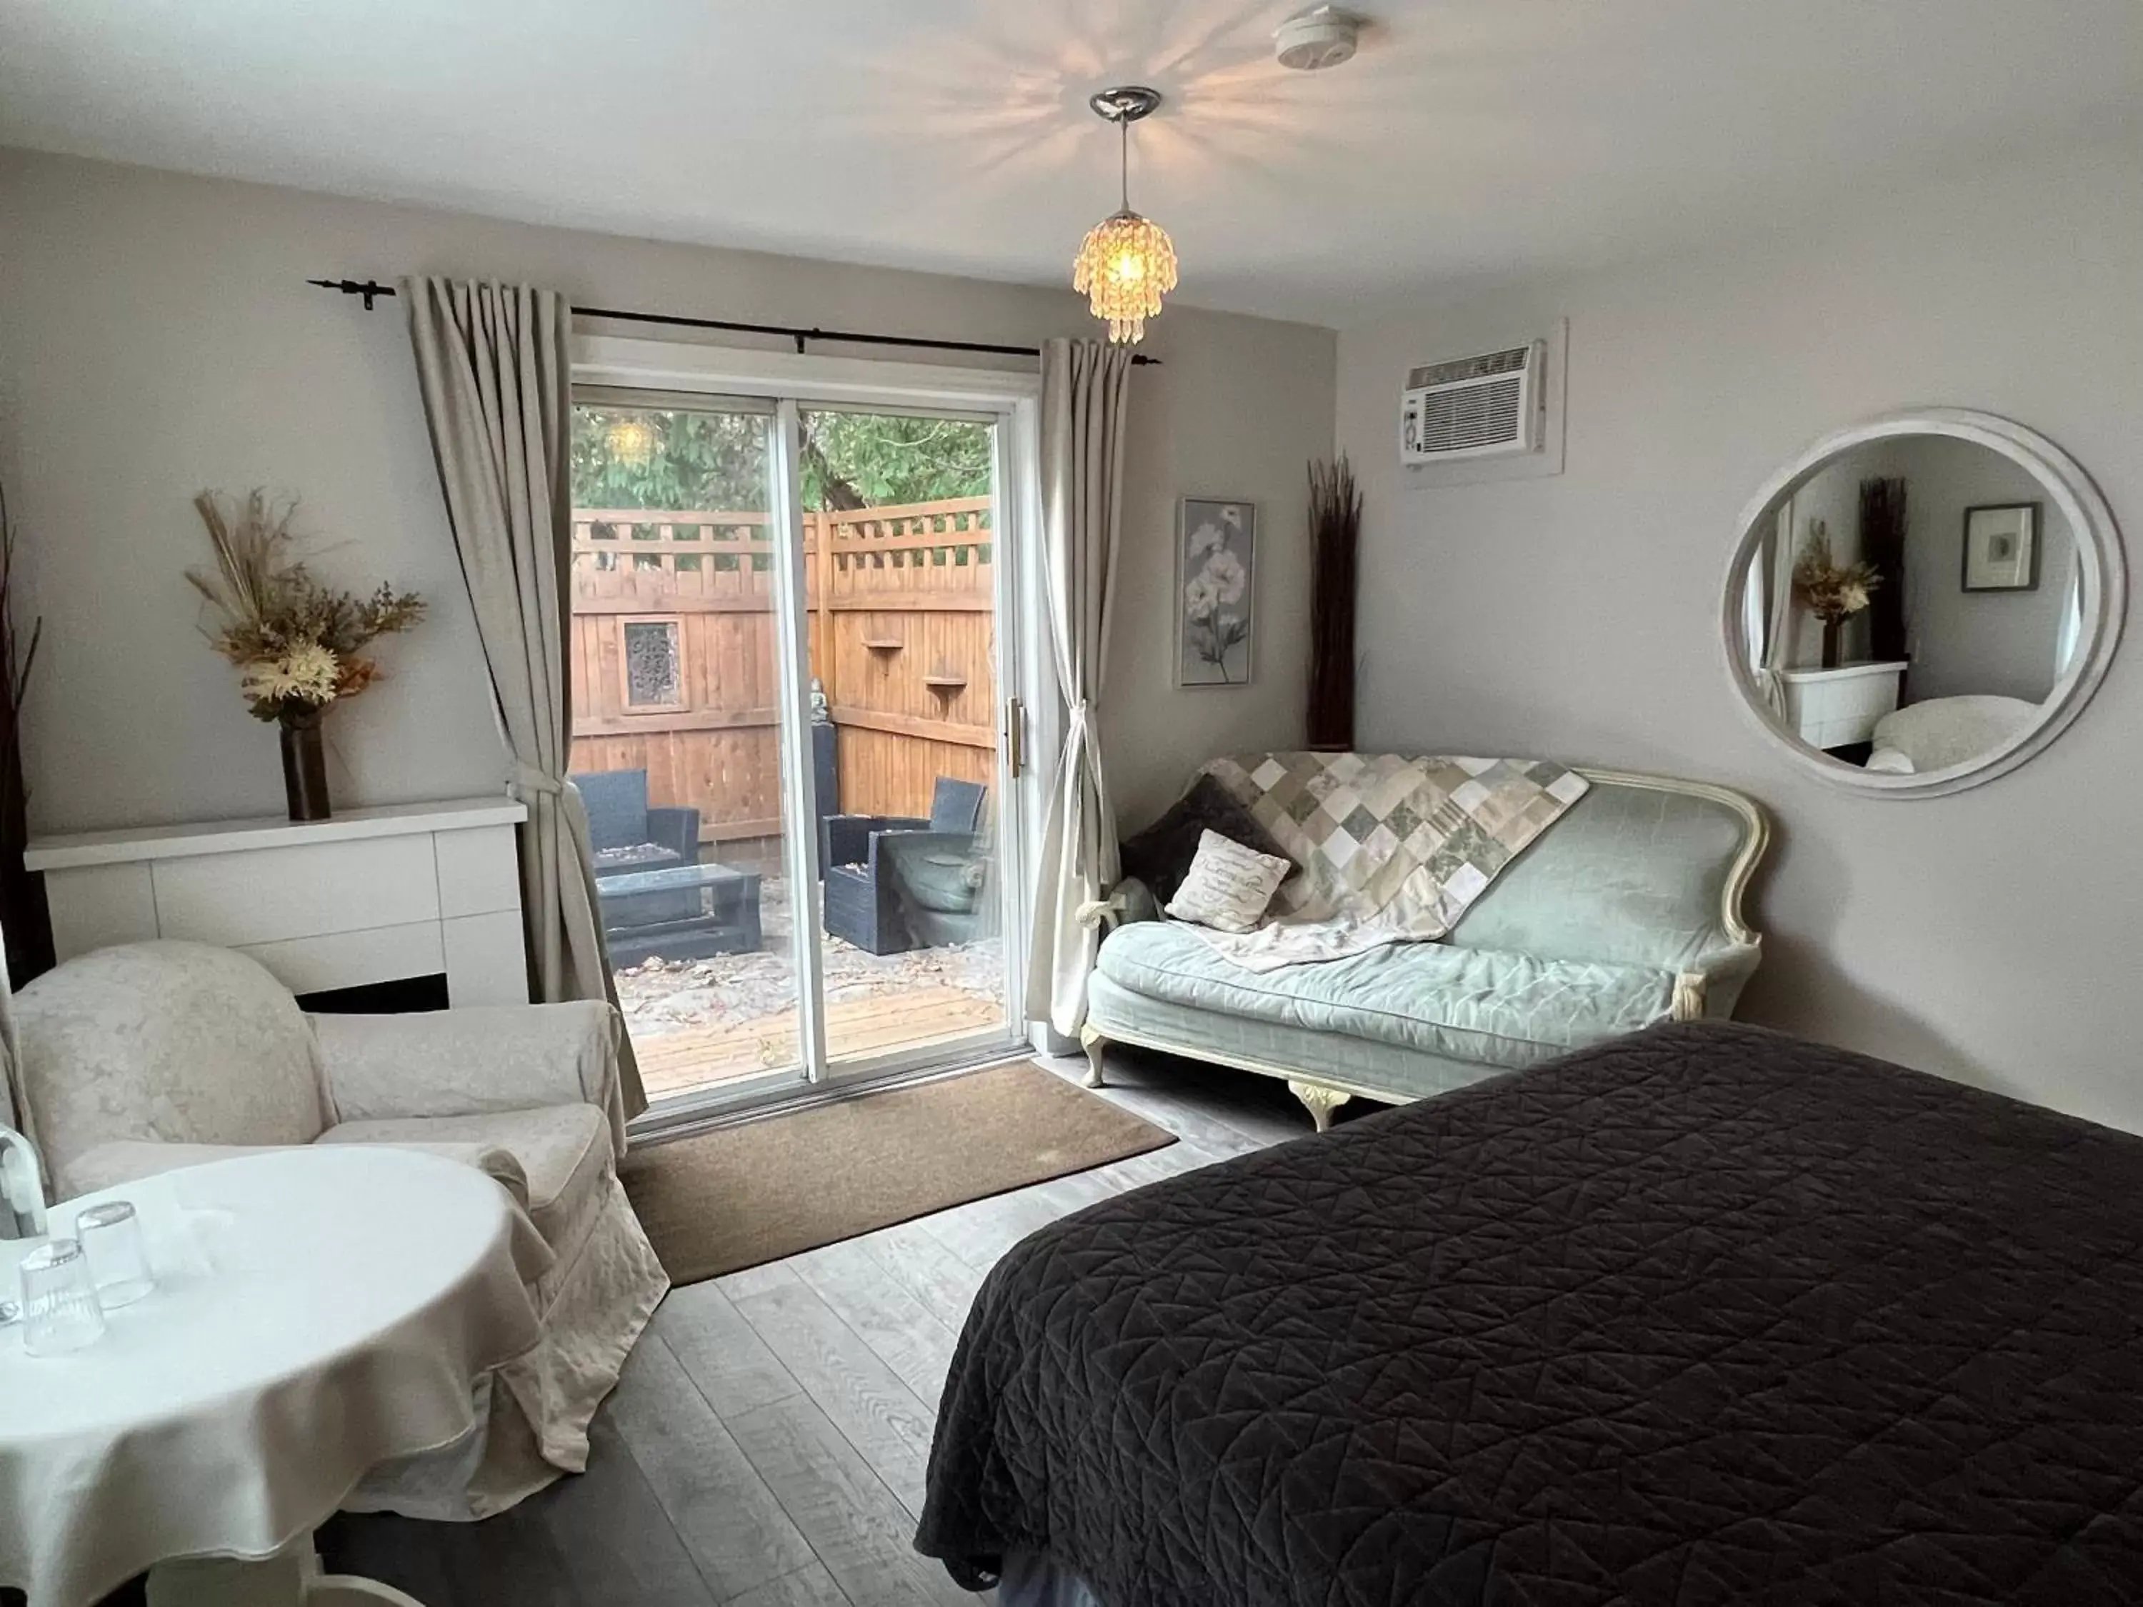
<svg viewBox="0 0 2143 1607">
<path fill-rule="evenodd" d="M 1059 1221 L 917 1547 L 1108 1607 L 2143 1603 L 2143 1138 L 1665 1026 Z"/>
</svg>

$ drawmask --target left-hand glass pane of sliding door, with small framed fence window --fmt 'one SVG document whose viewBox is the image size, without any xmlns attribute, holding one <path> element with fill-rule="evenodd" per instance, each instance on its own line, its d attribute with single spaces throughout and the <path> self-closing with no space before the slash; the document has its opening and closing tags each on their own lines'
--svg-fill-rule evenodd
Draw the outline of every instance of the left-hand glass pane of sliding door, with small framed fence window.
<svg viewBox="0 0 2143 1607">
<path fill-rule="evenodd" d="M 776 409 L 585 396 L 572 441 L 572 780 L 649 1099 L 806 1058 L 782 789 Z"/>
</svg>

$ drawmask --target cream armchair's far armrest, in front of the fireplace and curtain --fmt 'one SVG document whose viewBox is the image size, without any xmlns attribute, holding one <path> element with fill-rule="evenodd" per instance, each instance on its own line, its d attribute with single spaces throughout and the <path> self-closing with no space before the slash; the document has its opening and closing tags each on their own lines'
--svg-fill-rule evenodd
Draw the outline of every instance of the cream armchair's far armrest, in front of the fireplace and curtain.
<svg viewBox="0 0 2143 1607">
<path fill-rule="evenodd" d="M 604 1112 L 624 1155 L 619 1022 L 609 1005 L 478 1005 L 311 1022 L 336 1121 L 587 1103 Z"/>
</svg>

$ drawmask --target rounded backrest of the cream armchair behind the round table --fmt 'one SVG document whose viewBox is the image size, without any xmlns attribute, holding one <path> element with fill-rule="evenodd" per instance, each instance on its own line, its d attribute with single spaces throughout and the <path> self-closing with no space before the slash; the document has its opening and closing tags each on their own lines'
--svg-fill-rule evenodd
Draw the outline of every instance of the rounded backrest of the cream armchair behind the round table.
<svg viewBox="0 0 2143 1607">
<path fill-rule="evenodd" d="M 328 1125 L 313 1028 L 264 964 L 124 943 L 15 994 L 30 1138 L 64 1198 L 99 1144 L 311 1144 Z"/>
</svg>

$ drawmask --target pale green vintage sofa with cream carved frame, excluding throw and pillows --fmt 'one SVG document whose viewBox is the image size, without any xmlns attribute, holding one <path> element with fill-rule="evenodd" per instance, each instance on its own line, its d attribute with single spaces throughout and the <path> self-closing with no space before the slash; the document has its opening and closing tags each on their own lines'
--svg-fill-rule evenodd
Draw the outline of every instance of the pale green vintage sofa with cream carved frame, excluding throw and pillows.
<svg viewBox="0 0 2143 1607">
<path fill-rule="evenodd" d="M 1080 1041 L 1286 1078 L 1322 1131 L 1352 1095 L 1406 1101 L 1654 1022 L 1725 1018 L 1762 941 L 1742 893 L 1770 827 L 1740 793 L 1579 769 L 1592 789 L 1442 943 L 1252 973 L 1125 883 Z"/>
</svg>

